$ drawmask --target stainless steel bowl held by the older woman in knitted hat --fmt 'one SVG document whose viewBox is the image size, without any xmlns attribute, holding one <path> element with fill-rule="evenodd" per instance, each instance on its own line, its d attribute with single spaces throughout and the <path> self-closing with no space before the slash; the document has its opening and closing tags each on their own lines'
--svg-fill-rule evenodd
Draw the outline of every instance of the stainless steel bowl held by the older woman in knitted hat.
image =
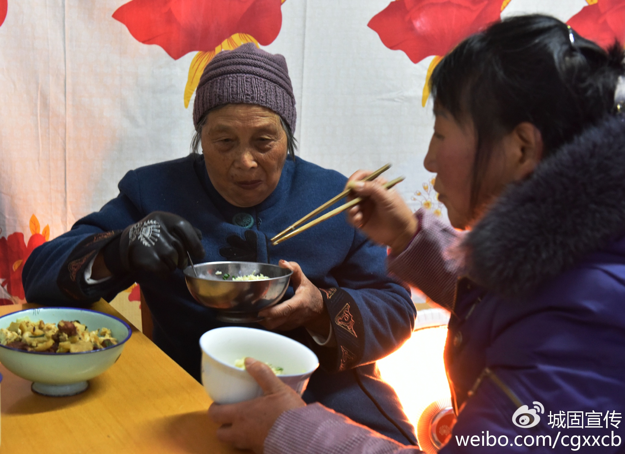
<svg viewBox="0 0 625 454">
<path fill-rule="evenodd" d="M 256 262 L 208 262 L 184 269 L 187 288 L 194 299 L 217 309 L 222 322 L 251 323 L 262 320 L 258 312 L 276 304 L 286 293 L 293 272 L 277 265 Z M 224 280 L 224 274 L 231 277 Z M 269 279 L 233 281 L 232 277 L 263 274 Z"/>
</svg>

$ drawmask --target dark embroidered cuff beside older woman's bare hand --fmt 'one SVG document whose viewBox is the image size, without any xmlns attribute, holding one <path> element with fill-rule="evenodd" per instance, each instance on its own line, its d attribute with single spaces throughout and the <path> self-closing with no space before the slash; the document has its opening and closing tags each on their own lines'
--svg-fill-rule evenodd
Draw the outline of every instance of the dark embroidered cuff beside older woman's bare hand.
<svg viewBox="0 0 625 454">
<path fill-rule="evenodd" d="M 360 310 L 346 290 L 336 287 L 320 290 L 332 323 L 336 348 L 312 347 L 328 372 L 354 368 L 364 353 L 364 323 Z"/>
</svg>

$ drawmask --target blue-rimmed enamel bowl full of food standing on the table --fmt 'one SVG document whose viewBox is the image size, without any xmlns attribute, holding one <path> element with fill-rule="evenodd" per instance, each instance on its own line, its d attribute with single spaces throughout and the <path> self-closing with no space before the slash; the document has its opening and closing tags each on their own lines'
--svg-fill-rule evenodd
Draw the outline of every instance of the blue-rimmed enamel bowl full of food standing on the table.
<svg viewBox="0 0 625 454">
<path fill-rule="evenodd" d="M 42 307 L 12 312 L 0 317 L 0 328 L 8 328 L 17 318 L 28 317 L 33 322 L 58 323 L 79 320 L 88 330 L 109 328 L 117 345 L 79 353 L 24 352 L 0 345 L 0 362 L 18 377 L 31 380 L 34 392 L 51 396 L 68 396 L 89 387 L 87 380 L 97 377 L 117 361 L 124 343 L 130 338 L 128 323 L 113 315 L 89 309 Z"/>
</svg>

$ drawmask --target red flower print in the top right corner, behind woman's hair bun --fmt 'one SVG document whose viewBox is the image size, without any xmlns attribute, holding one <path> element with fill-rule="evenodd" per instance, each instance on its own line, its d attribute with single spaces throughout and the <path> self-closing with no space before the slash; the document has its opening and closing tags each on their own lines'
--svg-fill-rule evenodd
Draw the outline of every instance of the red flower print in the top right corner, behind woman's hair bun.
<svg viewBox="0 0 625 454">
<path fill-rule="evenodd" d="M 601 47 L 607 48 L 614 41 L 625 44 L 625 1 L 599 0 L 584 6 L 566 23 Z"/>
</svg>

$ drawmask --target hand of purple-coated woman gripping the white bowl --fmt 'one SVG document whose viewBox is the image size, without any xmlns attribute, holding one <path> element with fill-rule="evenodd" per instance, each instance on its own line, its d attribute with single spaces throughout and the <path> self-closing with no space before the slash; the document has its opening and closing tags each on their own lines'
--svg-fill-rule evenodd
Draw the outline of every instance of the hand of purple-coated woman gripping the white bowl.
<svg viewBox="0 0 625 454">
<path fill-rule="evenodd" d="M 264 395 L 229 405 L 213 403 L 208 414 L 214 422 L 221 424 L 217 429 L 217 438 L 221 442 L 260 454 L 265 438 L 277 418 L 287 410 L 304 407 L 306 403 L 299 394 L 282 383 L 266 364 L 245 358 L 245 368 L 260 385 Z"/>
</svg>

